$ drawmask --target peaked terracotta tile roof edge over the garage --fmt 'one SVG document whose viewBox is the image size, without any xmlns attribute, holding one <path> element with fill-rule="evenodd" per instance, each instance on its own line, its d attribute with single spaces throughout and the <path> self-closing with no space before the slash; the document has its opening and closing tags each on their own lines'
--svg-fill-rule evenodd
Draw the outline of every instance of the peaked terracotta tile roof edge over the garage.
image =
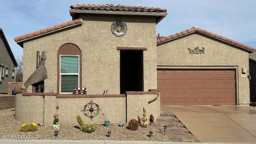
<svg viewBox="0 0 256 144">
<path fill-rule="evenodd" d="M 240 46 L 246 50 L 250 50 L 250 51 L 253 51 L 253 52 L 256 52 L 256 48 L 253 48 L 251 46 L 248 46 L 248 45 L 245 45 L 245 44 L 242 44 L 240 42 L 236 42 L 234 40 L 230 40 L 228 38 L 225 38 L 223 36 L 220 36 L 220 35 L 217 35 L 217 34 L 214 34 L 214 33 L 211 33 L 211 32 L 208 32 L 206 30 L 203 30 L 203 29 L 200 29 L 198 27 L 193 27 L 193 28 L 190 28 L 188 30 L 185 30 L 183 32 L 179 32 L 179 33 L 176 33 L 176 34 L 172 34 L 170 36 L 166 36 L 166 37 L 159 37 L 157 36 L 156 37 L 156 44 L 159 44 L 159 43 L 162 43 L 162 42 L 166 42 L 167 40 L 171 40 L 173 38 L 177 38 L 177 37 L 181 37 L 181 36 L 184 36 L 186 34 L 190 34 L 190 33 L 193 33 L 193 32 L 199 32 L 199 33 L 202 33 L 202 34 L 205 34 L 205 35 L 208 35 L 208 36 L 212 36 L 214 38 L 217 38 L 217 39 L 220 39 L 220 40 L 223 40 L 225 42 L 229 42 L 233 45 L 236 45 L 236 46 Z"/>
</svg>

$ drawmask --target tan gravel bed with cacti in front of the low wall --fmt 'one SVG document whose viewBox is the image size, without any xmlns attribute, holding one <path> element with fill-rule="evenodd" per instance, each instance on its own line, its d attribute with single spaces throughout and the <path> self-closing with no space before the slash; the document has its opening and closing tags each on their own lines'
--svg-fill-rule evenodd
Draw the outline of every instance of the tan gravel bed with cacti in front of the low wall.
<svg viewBox="0 0 256 144">
<path fill-rule="evenodd" d="M 15 108 L 0 110 L 0 135 L 1 136 L 27 136 L 32 140 L 127 140 L 127 141 L 158 141 L 171 142 L 168 136 L 158 132 L 159 130 L 150 126 L 132 131 L 124 126 L 110 123 L 109 127 L 103 124 L 97 124 L 97 128 L 92 133 L 82 132 L 80 125 L 77 124 L 60 124 L 59 129 L 54 129 L 52 126 L 38 126 L 35 132 L 21 132 L 20 126 L 22 122 L 14 119 Z M 54 136 L 54 131 L 58 130 L 58 136 Z M 111 131 L 110 137 L 106 136 L 108 131 Z M 149 131 L 153 134 L 151 138 L 148 136 Z M 22 138 L 22 137 L 21 137 Z"/>
</svg>

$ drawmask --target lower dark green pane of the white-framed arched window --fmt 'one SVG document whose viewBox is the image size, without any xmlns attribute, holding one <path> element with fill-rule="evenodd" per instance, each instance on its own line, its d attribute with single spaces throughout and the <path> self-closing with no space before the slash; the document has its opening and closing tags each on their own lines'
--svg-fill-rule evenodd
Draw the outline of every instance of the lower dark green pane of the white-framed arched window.
<svg viewBox="0 0 256 144">
<path fill-rule="evenodd" d="M 73 92 L 78 87 L 78 75 L 61 75 L 61 92 Z"/>
</svg>

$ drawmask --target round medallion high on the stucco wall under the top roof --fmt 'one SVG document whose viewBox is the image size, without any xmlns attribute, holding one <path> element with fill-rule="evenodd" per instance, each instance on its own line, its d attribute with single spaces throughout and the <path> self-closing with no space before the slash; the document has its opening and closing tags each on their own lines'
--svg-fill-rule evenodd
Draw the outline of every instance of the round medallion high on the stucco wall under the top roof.
<svg viewBox="0 0 256 144">
<path fill-rule="evenodd" d="M 127 30 L 127 26 L 121 20 L 114 21 L 111 25 L 111 32 L 115 36 L 123 36 L 126 33 L 126 30 Z"/>
</svg>

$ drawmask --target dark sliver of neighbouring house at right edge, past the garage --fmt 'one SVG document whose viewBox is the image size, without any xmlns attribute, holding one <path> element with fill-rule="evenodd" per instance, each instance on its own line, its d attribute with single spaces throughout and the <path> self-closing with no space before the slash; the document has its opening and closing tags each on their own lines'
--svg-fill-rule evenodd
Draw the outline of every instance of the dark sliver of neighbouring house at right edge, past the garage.
<svg viewBox="0 0 256 144">
<path fill-rule="evenodd" d="M 256 52 L 249 54 L 250 65 L 250 99 L 251 102 L 256 102 Z"/>
</svg>

